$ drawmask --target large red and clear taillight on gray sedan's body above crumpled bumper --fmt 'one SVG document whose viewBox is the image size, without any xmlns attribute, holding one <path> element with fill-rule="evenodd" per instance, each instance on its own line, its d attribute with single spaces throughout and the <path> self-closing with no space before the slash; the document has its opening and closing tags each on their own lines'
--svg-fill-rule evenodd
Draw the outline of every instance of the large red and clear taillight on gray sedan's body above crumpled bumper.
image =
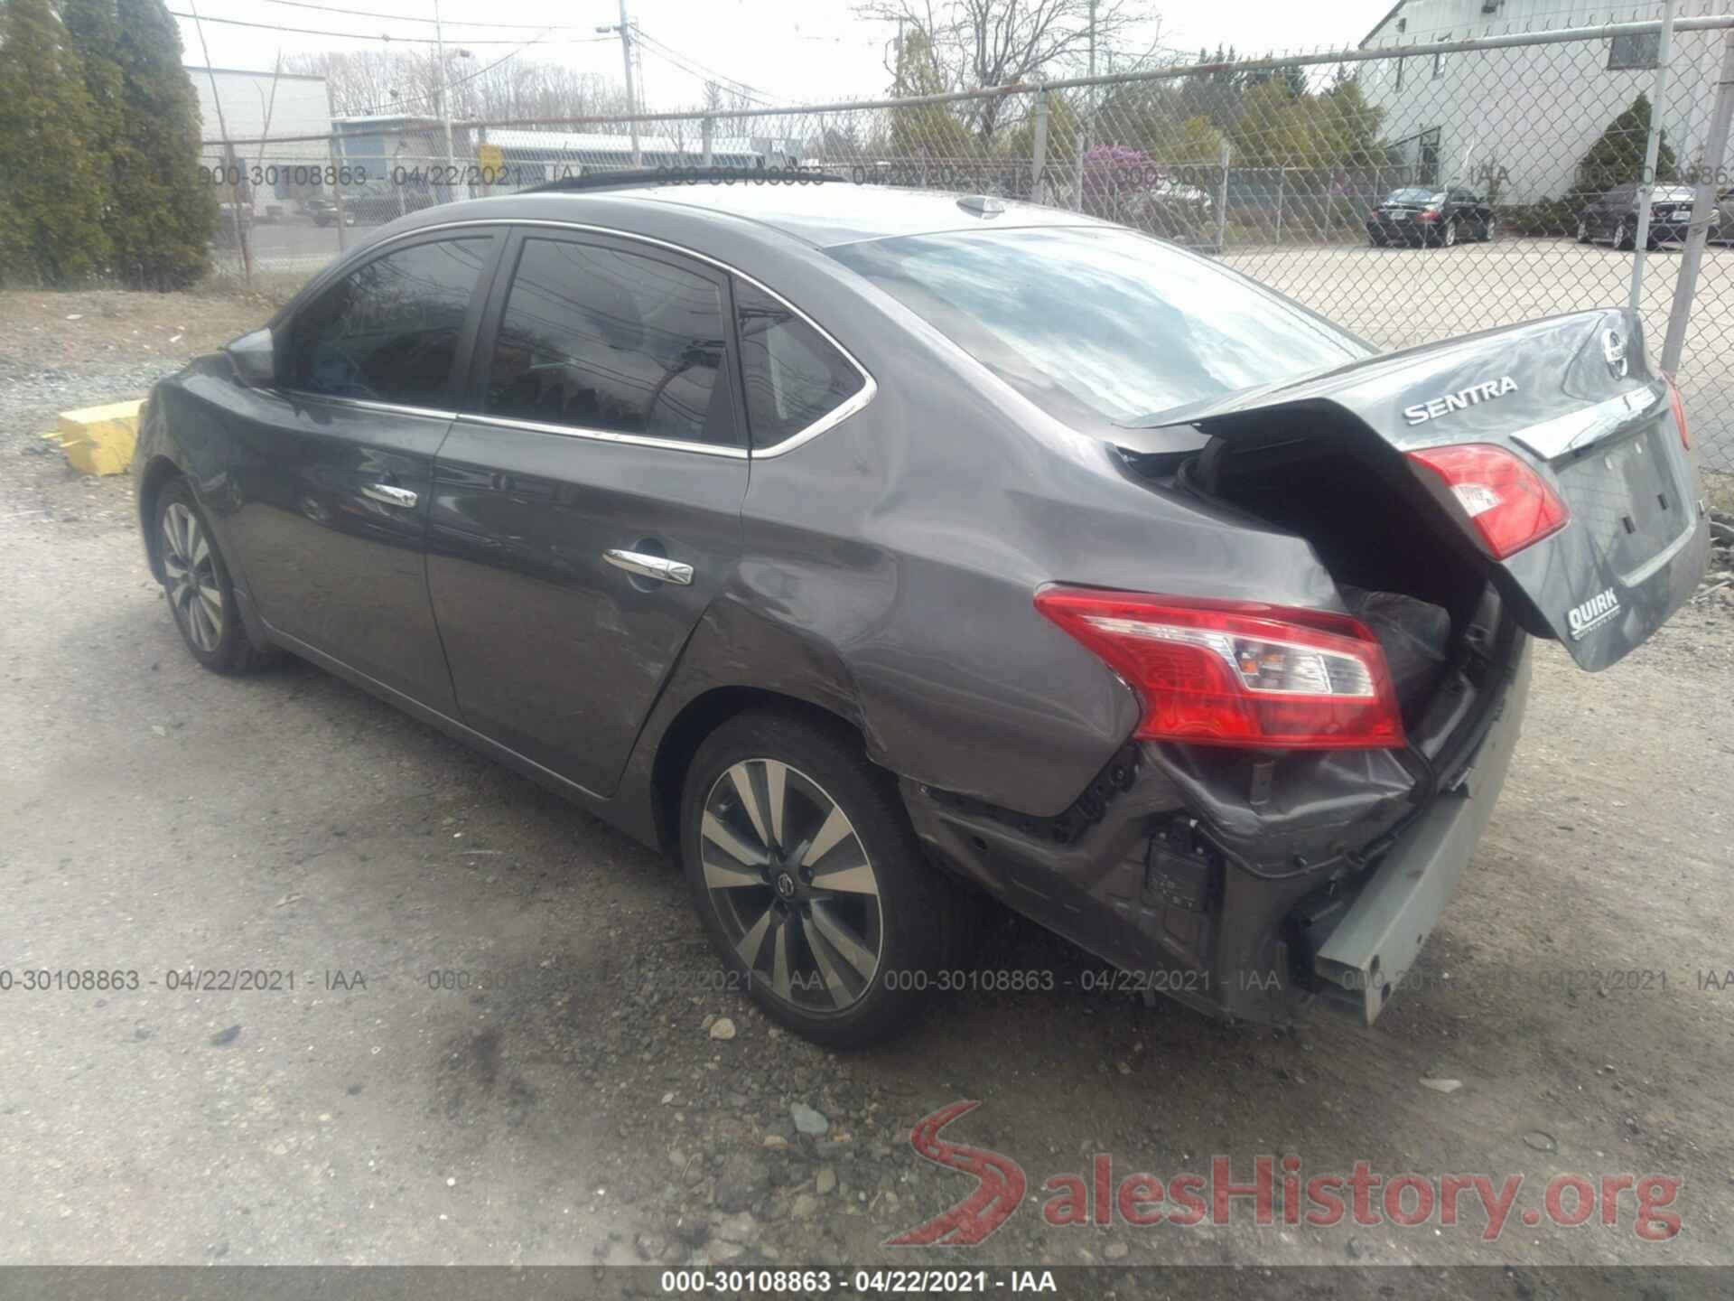
<svg viewBox="0 0 1734 1301">
<path fill-rule="evenodd" d="M 1385 652 L 1358 619 L 1245 600 L 1046 586 L 1035 609 L 1138 692 L 1138 737 L 1261 749 L 1403 746 Z"/>
</svg>

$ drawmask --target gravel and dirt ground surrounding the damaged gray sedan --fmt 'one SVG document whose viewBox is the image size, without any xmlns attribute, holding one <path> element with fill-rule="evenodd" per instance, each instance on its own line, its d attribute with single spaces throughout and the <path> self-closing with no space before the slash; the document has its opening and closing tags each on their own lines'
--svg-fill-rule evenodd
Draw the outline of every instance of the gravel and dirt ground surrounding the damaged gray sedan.
<svg viewBox="0 0 1734 1301">
<path fill-rule="evenodd" d="M 1103 1263 L 1122 1294 L 1157 1263 L 1505 1263 L 1463 1292 L 1502 1296 L 1569 1294 L 1545 1265 L 1734 1265 L 1729 592 L 1602 675 L 1538 647 L 1510 784 L 1377 1029 L 1085 992 L 1080 954 L 997 921 L 987 963 L 1051 992 L 936 996 L 836 1055 L 714 990 L 668 862 L 309 666 L 192 664 L 127 482 L 38 434 L 262 314 L 0 297 L 0 1259 Z M 85 968 L 142 987 L 17 984 Z M 295 987 L 168 989 L 225 968 Z M 947 1138 L 1014 1159 L 1028 1204 L 976 1247 L 884 1247 L 973 1187 L 907 1141 L 954 1100 L 981 1105 Z M 1493 1242 L 1472 1202 L 1455 1226 L 1046 1223 L 1044 1180 L 1098 1152 L 1115 1181 L 1295 1154 L 1526 1183 Z M 1618 1225 L 1529 1225 L 1562 1173 L 1679 1178 L 1682 1228 L 1642 1240 L 1630 1193 Z"/>
</svg>

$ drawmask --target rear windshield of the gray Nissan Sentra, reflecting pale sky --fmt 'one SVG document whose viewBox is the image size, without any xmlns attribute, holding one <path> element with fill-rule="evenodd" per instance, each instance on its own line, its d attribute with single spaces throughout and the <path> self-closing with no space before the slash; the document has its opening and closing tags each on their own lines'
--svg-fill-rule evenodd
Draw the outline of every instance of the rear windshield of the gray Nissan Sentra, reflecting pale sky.
<svg viewBox="0 0 1734 1301">
<path fill-rule="evenodd" d="M 829 252 L 1079 427 L 1150 423 L 1368 354 L 1300 305 L 1132 231 L 968 231 Z"/>
</svg>

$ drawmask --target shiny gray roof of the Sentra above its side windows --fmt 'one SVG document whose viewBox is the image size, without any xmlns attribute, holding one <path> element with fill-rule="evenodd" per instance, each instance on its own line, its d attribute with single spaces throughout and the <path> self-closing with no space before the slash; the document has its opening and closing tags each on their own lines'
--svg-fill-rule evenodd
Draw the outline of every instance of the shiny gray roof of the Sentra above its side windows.
<svg viewBox="0 0 1734 1301">
<path fill-rule="evenodd" d="M 413 224 L 437 226 L 456 220 L 569 220 L 596 226 L 629 226 L 636 208 L 649 215 L 678 219 L 690 215 L 694 226 L 714 222 L 716 213 L 772 227 L 815 248 L 864 239 L 888 239 L 945 231 L 981 231 L 1030 226 L 1106 226 L 1063 208 L 995 199 L 992 215 L 971 212 L 957 193 L 902 189 L 891 186 L 857 186 L 850 180 L 824 180 L 801 186 L 739 184 L 669 184 L 590 189 L 576 193 L 539 191 L 466 199 L 427 208 Z M 394 222 L 395 229 L 406 229 Z"/>
</svg>

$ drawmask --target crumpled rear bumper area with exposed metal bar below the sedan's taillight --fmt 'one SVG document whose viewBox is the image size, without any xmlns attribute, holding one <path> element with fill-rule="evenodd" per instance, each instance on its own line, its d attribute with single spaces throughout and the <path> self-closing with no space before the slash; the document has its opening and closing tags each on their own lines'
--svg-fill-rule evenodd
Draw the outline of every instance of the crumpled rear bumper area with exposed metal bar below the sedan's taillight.
<svg viewBox="0 0 1734 1301">
<path fill-rule="evenodd" d="M 1323 999 L 1372 1022 L 1455 893 L 1503 786 L 1529 683 L 1528 638 L 1516 640 L 1505 673 L 1465 690 L 1486 699 L 1441 701 L 1457 723 L 1479 715 L 1484 730 L 1425 782 L 1396 751 L 1247 756 L 1243 772 L 1212 772 L 1174 748 L 1132 744 L 1058 819 L 914 782 L 905 805 L 936 860 L 1120 968 L 1122 989 L 1266 1023 Z M 1250 801 L 1212 803 L 1242 782 Z"/>
</svg>

